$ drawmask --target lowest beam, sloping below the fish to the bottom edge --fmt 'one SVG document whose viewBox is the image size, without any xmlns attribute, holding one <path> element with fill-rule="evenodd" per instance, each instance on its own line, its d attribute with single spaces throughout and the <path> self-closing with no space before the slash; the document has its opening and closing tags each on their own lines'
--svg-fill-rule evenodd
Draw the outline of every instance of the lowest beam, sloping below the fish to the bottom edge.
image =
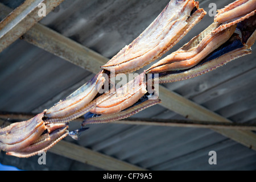
<svg viewBox="0 0 256 182">
<path fill-rule="evenodd" d="M 27 119 L 27 118 L 31 118 L 31 115 L 22 116 L 22 114 L 18 114 L 16 115 L 16 118 Z M 10 125 L 10 122 L 4 122 L 0 119 L 0 126 L 3 125 L 3 123 L 5 123 L 5 126 Z M 92 165 L 101 169 L 109 170 L 109 171 L 145 170 L 143 168 L 134 166 L 133 164 L 123 162 L 122 160 L 115 159 L 111 156 L 101 154 L 100 152 L 90 150 L 89 148 L 85 148 L 77 144 L 67 142 L 65 140 L 61 140 L 59 143 L 57 143 L 54 147 L 52 147 L 48 151 L 52 152 L 53 154 L 61 155 L 66 158 L 73 159 L 78 162 L 89 164 L 89 165 Z"/>
</svg>

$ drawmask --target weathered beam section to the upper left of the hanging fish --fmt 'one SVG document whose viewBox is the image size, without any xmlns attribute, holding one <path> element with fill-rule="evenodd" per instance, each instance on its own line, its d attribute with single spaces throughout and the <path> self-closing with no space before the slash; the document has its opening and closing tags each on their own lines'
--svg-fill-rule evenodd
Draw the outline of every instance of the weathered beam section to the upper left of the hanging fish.
<svg viewBox="0 0 256 182">
<path fill-rule="evenodd" d="M 2 3 L 0 3 L 0 10 L 0 19 L 11 12 L 11 9 Z M 94 74 L 100 72 L 101 65 L 109 60 L 40 23 L 30 28 L 22 39 Z"/>
</svg>

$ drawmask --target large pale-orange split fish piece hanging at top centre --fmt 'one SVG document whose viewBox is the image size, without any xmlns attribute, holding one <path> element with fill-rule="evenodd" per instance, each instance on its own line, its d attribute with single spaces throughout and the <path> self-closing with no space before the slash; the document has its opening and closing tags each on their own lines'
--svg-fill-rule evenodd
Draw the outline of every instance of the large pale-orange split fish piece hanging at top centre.
<svg viewBox="0 0 256 182">
<path fill-rule="evenodd" d="M 205 14 L 198 2 L 171 0 L 137 39 L 101 68 L 127 73 L 150 64 L 179 42 Z"/>
</svg>

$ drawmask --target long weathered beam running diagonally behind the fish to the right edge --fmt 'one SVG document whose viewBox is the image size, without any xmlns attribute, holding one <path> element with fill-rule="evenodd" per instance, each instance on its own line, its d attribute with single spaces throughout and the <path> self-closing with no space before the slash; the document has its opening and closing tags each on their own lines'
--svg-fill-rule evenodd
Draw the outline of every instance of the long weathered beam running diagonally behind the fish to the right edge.
<svg viewBox="0 0 256 182">
<path fill-rule="evenodd" d="M 5 7 L 1 5 L 0 10 L 2 8 Z M 63 35 L 60 35 L 39 23 L 27 31 L 27 33 L 23 35 L 23 39 L 93 73 L 98 73 L 98 71 L 100 71 L 99 65 L 103 65 L 108 61 L 106 57 L 91 51 L 71 39 L 65 38 Z M 61 40 L 63 40 L 63 42 Z M 78 47 L 79 49 L 74 49 L 73 47 Z M 72 57 L 70 55 L 71 52 L 75 55 L 80 55 L 81 57 Z M 92 60 L 97 61 L 94 62 Z M 87 64 L 89 64 L 89 66 L 86 66 Z M 232 122 L 221 115 L 164 88 L 162 85 L 159 85 L 159 97 L 162 100 L 161 105 L 163 107 L 175 111 L 189 119 Z M 227 129 L 214 129 L 214 131 L 256 150 L 256 135 L 251 131 Z"/>
</svg>

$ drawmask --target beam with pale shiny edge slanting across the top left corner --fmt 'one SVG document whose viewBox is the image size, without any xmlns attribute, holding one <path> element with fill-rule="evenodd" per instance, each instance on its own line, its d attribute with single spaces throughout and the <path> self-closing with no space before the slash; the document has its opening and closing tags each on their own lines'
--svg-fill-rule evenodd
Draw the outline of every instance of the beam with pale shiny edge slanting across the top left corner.
<svg viewBox="0 0 256 182">
<path fill-rule="evenodd" d="M 46 5 L 46 15 L 64 0 L 26 0 L 0 22 L 0 52 L 19 39 L 44 16 L 39 16 L 40 3 Z M 42 7 L 43 8 L 43 7 Z M 2 10 L 1 10 L 2 11 Z M 7 12 L 7 11 L 5 11 Z M 2 12 L 1 12 L 2 13 Z"/>
</svg>

